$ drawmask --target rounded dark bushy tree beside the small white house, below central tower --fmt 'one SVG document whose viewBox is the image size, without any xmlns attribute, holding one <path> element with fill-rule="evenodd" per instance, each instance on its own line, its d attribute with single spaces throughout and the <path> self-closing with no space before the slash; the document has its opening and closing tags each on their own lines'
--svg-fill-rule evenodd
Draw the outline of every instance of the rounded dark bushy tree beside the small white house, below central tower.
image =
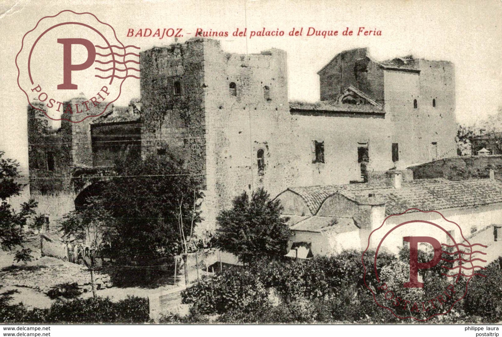
<svg viewBox="0 0 502 337">
<path fill-rule="evenodd" d="M 218 229 L 215 245 L 249 263 L 263 257 L 280 259 L 292 232 L 287 217 L 282 217 L 283 206 L 279 200 L 271 201 L 263 188 L 246 192 L 233 199 L 231 209 L 223 210 L 216 218 Z"/>
</svg>

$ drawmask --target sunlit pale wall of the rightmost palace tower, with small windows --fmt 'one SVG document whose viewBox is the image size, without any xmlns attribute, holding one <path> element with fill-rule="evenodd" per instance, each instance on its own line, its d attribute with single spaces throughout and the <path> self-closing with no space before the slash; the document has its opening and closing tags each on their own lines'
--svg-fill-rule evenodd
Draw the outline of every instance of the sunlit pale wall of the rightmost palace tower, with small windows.
<svg viewBox="0 0 502 337">
<path fill-rule="evenodd" d="M 392 143 L 399 144 L 400 162 L 408 165 L 456 155 L 453 64 L 418 61 L 420 74 L 385 71 L 385 108 L 394 124 Z"/>
</svg>

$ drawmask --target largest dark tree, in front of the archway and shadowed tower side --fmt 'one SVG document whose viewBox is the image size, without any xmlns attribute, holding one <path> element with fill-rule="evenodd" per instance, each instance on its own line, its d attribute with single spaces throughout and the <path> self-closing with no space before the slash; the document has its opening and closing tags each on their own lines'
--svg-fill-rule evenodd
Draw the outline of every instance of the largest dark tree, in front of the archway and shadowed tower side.
<svg viewBox="0 0 502 337">
<path fill-rule="evenodd" d="M 179 254 L 186 259 L 200 246 L 194 235 L 201 221 L 200 174 L 169 153 L 120 161 L 115 171 L 103 191 L 104 206 L 116 220 L 109 257 L 146 264 Z"/>
</svg>

